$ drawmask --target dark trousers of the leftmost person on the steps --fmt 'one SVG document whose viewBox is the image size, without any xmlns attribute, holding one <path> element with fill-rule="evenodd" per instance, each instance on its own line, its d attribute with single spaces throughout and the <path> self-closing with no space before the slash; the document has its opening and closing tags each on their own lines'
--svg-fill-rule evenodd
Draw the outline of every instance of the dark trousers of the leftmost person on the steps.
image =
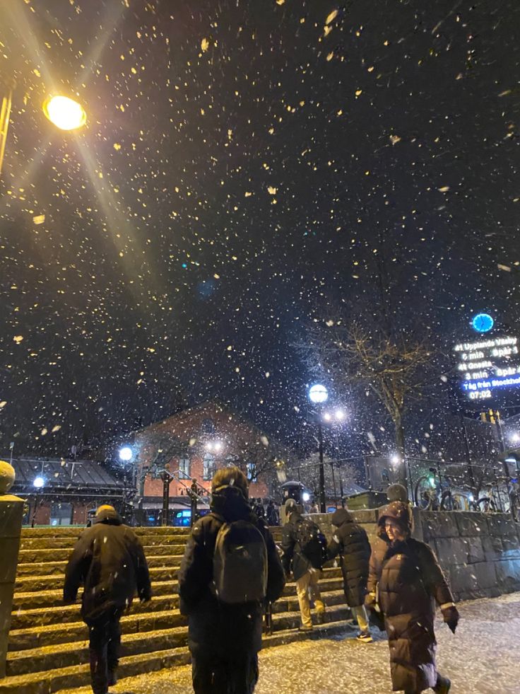
<svg viewBox="0 0 520 694">
<path fill-rule="evenodd" d="M 107 694 L 119 663 L 121 626 L 124 608 L 114 608 L 95 620 L 85 620 L 89 632 L 90 681 L 94 694 Z"/>
</svg>

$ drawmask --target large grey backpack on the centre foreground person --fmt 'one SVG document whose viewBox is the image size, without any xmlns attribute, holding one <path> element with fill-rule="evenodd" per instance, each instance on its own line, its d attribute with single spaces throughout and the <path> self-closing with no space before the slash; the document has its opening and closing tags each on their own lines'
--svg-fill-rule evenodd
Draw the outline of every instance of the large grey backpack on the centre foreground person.
<svg viewBox="0 0 520 694">
<path fill-rule="evenodd" d="M 249 521 L 233 521 L 220 526 L 213 553 L 212 589 L 222 603 L 264 601 L 266 541 L 259 528 Z"/>
</svg>

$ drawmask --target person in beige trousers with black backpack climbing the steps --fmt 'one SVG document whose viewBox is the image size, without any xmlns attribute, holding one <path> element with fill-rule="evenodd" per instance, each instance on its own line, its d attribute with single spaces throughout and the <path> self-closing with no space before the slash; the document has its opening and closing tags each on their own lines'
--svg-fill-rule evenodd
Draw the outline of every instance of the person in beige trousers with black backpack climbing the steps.
<svg viewBox="0 0 520 694">
<path fill-rule="evenodd" d="M 282 565 L 286 577 L 290 577 L 292 571 L 296 582 L 302 619 L 299 629 L 311 631 L 311 600 L 316 608 L 317 623 L 323 623 L 325 616 L 325 604 L 321 599 L 318 582 L 326 561 L 326 539 L 314 521 L 302 516 L 299 504 L 286 506 L 285 512 L 288 514 L 288 521 L 282 530 Z"/>
</svg>

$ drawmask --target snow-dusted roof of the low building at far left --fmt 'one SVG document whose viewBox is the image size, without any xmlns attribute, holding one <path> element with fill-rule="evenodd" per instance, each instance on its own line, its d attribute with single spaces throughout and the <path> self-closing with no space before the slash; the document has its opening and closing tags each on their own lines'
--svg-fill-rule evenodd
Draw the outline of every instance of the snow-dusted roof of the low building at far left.
<svg viewBox="0 0 520 694">
<path fill-rule="evenodd" d="M 42 492 L 49 491 L 91 491 L 106 490 L 117 492 L 123 489 L 123 482 L 116 480 L 99 463 L 93 461 L 66 461 L 64 459 L 16 458 L 12 461 L 16 473 L 13 491 L 35 490 L 34 480 L 45 480 Z"/>
</svg>

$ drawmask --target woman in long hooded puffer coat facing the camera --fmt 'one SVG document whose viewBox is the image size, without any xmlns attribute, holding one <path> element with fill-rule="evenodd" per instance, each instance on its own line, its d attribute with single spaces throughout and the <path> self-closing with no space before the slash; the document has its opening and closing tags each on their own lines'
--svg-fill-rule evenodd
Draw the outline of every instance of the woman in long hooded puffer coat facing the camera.
<svg viewBox="0 0 520 694">
<path fill-rule="evenodd" d="M 389 637 L 392 689 L 418 694 L 432 688 L 447 694 L 451 683 L 437 672 L 434 599 L 455 633 L 459 612 L 432 550 L 410 538 L 410 509 L 392 502 L 379 517 L 387 543 L 379 574 L 379 606 Z"/>
</svg>

